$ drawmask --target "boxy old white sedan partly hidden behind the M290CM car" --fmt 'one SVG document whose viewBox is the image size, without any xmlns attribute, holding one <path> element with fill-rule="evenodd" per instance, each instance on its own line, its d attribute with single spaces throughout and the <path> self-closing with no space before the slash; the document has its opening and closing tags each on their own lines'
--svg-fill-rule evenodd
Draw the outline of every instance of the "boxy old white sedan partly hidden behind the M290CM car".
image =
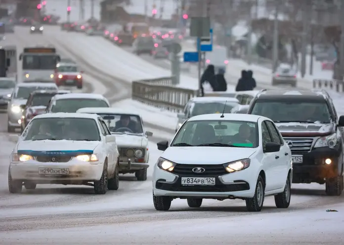
<svg viewBox="0 0 344 245">
<path fill-rule="evenodd" d="M 81 108 L 78 113 L 95 113 L 103 118 L 111 133 L 116 135 L 120 152 L 120 173 L 135 173 L 137 180 L 147 180 L 149 167 L 148 136 L 139 114 L 116 108 Z"/>
</svg>

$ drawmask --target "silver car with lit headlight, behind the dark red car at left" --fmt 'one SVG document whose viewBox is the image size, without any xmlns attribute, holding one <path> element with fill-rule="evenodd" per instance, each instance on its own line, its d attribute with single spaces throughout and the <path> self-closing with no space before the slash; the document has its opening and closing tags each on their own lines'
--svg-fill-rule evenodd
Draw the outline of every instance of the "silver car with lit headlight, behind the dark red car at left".
<svg viewBox="0 0 344 245">
<path fill-rule="evenodd" d="M 25 106 L 30 94 L 36 90 L 57 90 L 53 82 L 21 82 L 18 83 L 11 95 L 7 105 L 7 131 L 14 132 L 20 128 Z"/>
</svg>

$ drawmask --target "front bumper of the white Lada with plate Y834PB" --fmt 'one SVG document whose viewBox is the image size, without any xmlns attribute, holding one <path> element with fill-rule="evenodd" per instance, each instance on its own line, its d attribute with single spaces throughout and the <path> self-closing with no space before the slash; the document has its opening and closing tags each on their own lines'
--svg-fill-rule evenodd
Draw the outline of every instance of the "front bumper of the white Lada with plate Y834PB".
<svg viewBox="0 0 344 245">
<path fill-rule="evenodd" d="M 186 165 L 186 164 L 183 164 Z M 203 166 L 203 165 L 202 165 Z M 221 166 L 221 165 L 217 165 Z M 194 167 L 194 166 L 192 166 Z M 177 174 L 154 166 L 153 193 L 155 196 L 174 198 L 245 199 L 255 195 L 257 169 L 250 166 L 233 173 L 223 172 L 214 175 Z M 181 184 L 181 177 L 215 177 L 215 185 Z"/>
</svg>

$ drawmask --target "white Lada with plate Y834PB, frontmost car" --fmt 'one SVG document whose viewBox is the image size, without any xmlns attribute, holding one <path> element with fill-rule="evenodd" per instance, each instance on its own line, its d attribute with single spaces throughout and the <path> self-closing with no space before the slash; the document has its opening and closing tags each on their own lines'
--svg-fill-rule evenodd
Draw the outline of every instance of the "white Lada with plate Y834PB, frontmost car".
<svg viewBox="0 0 344 245">
<path fill-rule="evenodd" d="M 242 199 L 260 211 L 265 196 L 277 207 L 290 204 L 291 151 L 268 118 L 208 114 L 188 119 L 154 166 L 153 203 L 168 210 L 173 199 L 200 207 L 203 199 Z"/>
</svg>

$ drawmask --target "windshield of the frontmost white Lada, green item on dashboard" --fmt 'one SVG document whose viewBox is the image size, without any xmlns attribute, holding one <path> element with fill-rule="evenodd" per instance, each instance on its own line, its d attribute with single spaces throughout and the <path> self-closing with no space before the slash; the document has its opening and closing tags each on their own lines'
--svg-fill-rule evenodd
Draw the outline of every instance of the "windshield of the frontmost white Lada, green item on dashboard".
<svg viewBox="0 0 344 245">
<path fill-rule="evenodd" d="M 258 147 L 258 125 L 243 121 L 188 121 L 172 146 Z"/>
</svg>

